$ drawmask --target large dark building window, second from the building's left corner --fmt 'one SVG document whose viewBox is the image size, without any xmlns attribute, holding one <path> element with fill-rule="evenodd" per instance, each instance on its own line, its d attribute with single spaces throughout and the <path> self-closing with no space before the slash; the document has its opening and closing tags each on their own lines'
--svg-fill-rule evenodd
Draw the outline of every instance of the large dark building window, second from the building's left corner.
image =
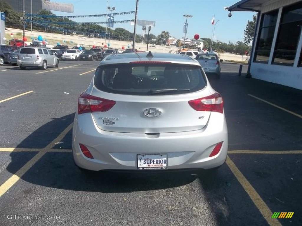
<svg viewBox="0 0 302 226">
<path fill-rule="evenodd" d="M 272 64 L 293 66 L 302 26 L 302 3 L 282 11 Z"/>
</svg>

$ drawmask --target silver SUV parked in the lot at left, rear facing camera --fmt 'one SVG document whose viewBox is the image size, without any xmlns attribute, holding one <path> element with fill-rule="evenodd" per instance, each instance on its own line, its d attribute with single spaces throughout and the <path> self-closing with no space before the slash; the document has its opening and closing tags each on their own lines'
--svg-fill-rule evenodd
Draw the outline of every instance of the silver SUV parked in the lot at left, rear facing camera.
<svg viewBox="0 0 302 226">
<path fill-rule="evenodd" d="M 46 48 L 23 47 L 20 49 L 17 64 L 21 70 L 32 66 L 46 70 L 48 66 L 59 67 L 59 58 Z"/>
</svg>

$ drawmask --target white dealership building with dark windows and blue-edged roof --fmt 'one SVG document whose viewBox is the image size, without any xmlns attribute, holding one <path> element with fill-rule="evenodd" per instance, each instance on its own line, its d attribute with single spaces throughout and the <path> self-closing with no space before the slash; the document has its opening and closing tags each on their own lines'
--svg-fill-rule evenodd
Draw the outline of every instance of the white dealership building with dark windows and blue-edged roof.
<svg viewBox="0 0 302 226">
<path fill-rule="evenodd" d="M 226 9 L 258 13 L 250 75 L 302 89 L 302 1 L 242 0 Z"/>
</svg>

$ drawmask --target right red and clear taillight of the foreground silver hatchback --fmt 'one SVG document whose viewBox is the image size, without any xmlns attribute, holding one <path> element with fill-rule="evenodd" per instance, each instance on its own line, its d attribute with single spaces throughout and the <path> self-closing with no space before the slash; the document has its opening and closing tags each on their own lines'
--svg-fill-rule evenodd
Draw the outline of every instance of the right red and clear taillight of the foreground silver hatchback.
<svg viewBox="0 0 302 226">
<path fill-rule="evenodd" d="M 223 99 L 219 93 L 196 100 L 190 100 L 189 105 L 196 111 L 216 111 L 223 113 Z"/>
</svg>

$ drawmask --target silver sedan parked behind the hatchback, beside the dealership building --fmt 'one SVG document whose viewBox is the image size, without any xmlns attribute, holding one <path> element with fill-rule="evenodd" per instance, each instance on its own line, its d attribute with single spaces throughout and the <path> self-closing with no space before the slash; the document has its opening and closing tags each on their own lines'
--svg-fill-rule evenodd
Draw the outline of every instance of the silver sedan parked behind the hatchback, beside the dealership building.
<svg viewBox="0 0 302 226">
<path fill-rule="evenodd" d="M 210 53 L 199 53 L 195 60 L 201 65 L 204 69 L 204 72 L 210 76 L 214 74 L 215 78 L 220 79 L 220 62 L 217 54 L 210 52 Z"/>
</svg>

